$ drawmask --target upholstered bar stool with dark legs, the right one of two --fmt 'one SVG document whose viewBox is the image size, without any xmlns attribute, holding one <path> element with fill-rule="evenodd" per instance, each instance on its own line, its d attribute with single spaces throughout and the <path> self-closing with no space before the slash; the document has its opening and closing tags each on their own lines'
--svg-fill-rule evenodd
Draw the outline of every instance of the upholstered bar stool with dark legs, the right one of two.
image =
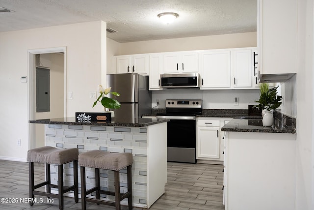
<svg viewBox="0 0 314 210">
<path fill-rule="evenodd" d="M 78 165 L 80 166 L 80 178 L 81 178 L 81 194 L 82 194 L 82 210 L 86 210 L 86 201 L 97 204 L 105 204 L 115 206 L 116 210 L 121 210 L 120 202 L 128 198 L 129 210 L 132 209 L 132 173 L 131 167 L 133 163 L 133 157 L 131 153 L 111 153 L 108 151 L 91 150 L 78 155 Z M 85 180 L 85 167 L 95 168 L 96 186 L 86 190 Z M 128 191 L 126 193 L 120 193 L 120 173 L 119 171 L 127 167 L 128 173 Z M 114 171 L 114 188 L 115 191 L 101 190 L 100 186 L 100 169 L 107 169 Z M 96 199 L 86 197 L 92 192 L 96 191 Z M 100 199 L 100 194 L 115 196 L 115 202 L 104 201 Z"/>
</svg>

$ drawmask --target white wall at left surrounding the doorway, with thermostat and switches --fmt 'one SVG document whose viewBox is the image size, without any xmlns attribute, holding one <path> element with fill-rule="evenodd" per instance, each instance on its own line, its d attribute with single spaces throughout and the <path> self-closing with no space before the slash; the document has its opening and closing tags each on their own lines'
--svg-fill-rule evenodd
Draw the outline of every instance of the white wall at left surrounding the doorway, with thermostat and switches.
<svg viewBox="0 0 314 210">
<path fill-rule="evenodd" d="M 28 150 L 28 91 L 21 76 L 28 74 L 28 50 L 66 47 L 67 116 L 92 108 L 90 91 L 97 91 L 106 74 L 106 23 L 102 21 L 0 33 L 0 159 L 26 160 Z M 17 139 L 22 139 L 18 147 Z"/>
</svg>

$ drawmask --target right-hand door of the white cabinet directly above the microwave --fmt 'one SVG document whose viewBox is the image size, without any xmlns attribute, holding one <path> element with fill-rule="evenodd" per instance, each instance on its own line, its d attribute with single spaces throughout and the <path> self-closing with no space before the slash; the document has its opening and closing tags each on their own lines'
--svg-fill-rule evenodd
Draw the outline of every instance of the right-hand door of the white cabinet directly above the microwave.
<svg viewBox="0 0 314 210">
<path fill-rule="evenodd" d="M 185 73 L 198 72 L 198 53 L 183 53 L 182 60 L 179 63 L 179 71 L 180 70 Z"/>
</svg>

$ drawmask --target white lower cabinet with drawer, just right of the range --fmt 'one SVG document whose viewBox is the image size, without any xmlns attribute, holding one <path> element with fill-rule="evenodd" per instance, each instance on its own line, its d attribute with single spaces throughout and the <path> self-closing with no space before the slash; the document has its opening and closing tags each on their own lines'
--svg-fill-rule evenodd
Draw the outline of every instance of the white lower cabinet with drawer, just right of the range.
<svg viewBox="0 0 314 210">
<path fill-rule="evenodd" d="M 232 118 L 198 118 L 196 159 L 223 161 L 223 136 L 221 127 L 224 121 Z"/>
</svg>

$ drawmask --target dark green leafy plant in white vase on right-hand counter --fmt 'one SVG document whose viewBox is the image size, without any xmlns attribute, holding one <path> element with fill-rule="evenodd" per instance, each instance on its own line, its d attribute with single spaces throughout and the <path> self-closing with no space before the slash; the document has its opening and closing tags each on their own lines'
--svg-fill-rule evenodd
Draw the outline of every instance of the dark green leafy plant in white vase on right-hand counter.
<svg viewBox="0 0 314 210">
<path fill-rule="evenodd" d="M 260 99 L 255 101 L 259 103 L 257 107 L 265 110 L 263 116 L 263 126 L 271 126 L 273 124 L 273 116 L 271 110 L 277 109 L 281 105 L 282 96 L 277 95 L 278 86 L 269 89 L 268 83 L 262 83 L 260 85 Z"/>
</svg>

